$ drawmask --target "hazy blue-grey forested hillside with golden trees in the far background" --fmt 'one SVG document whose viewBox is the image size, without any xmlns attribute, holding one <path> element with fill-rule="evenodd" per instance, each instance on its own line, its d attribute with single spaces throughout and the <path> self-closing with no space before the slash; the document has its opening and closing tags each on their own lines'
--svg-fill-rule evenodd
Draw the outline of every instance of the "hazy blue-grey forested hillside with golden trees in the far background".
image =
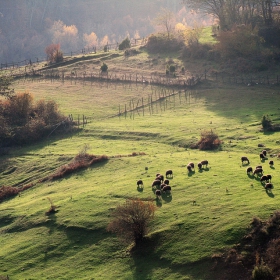
<svg viewBox="0 0 280 280">
<path fill-rule="evenodd" d="M 180 0 L 3 0 L 0 2 L 0 62 L 46 58 L 45 48 L 60 44 L 64 53 L 94 45 L 139 39 L 156 31 L 162 9 L 187 25 L 201 16 Z"/>
</svg>

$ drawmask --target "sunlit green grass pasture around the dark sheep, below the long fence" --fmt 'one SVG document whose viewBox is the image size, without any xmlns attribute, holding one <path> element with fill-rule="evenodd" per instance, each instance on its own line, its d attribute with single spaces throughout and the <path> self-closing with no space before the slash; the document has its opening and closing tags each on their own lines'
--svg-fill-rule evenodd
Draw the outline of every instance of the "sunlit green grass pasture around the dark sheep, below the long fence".
<svg viewBox="0 0 280 280">
<path fill-rule="evenodd" d="M 279 133 L 264 133 L 261 117 L 279 122 L 277 87 L 216 85 L 181 91 L 144 109 L 116 116 L 161 89 L 150 85 L 25 80 L 16 91 L 54 99 L 65 115 L 86 115 L 79 132 L 51 135 L 36 145 L 1 157 L 0 185 L 35 183 L 21 196 L 0 204 L 0 275 L 10 279 L 218 279 L 211 256 L 238 243 L 254 216 L 266 219 L 279 208 Z M 222 140 L 218 151 L 189 145 L 203 130 Z M 268 159 L 261 162 L 265 145 Z M 38 183 L 67 164 L 85 145 L 107 155 L 56 181 Z M 136 153 L 136 156 L 131 156 Z M 247 165 L 263 165 L 274 188 L 267 193 Z M 268 161 L 273 156 L 275 165 Z M 186 165 L 207 159 L 189 174 Z M 155 199 L 156 173 L 172 169 L 172 195 L 158 206 L 149 238 L 131 249 L 106 231 L 110 213 L 125 199 Z M 136 181 L 144 181 L 137 190 Z M 46 216 L 50 201 L 58 212 Z M 196 203 L 193 203 L 193 202 Z"/>
</svg>

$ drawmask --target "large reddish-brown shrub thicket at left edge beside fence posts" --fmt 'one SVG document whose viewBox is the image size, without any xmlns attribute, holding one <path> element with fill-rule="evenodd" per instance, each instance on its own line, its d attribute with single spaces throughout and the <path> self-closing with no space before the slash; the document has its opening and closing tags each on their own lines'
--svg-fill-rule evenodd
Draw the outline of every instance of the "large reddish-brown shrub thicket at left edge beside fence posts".
<svg viewBox="0 0 280 280">
<path fill-rule="evenodd" d="M 50 100 L 33 102 L 28 93 L 18 93 L 0 101 L 0 147 L 29 144 L 49 135 L 55 126 L 71 126 Z"/>
</svg>

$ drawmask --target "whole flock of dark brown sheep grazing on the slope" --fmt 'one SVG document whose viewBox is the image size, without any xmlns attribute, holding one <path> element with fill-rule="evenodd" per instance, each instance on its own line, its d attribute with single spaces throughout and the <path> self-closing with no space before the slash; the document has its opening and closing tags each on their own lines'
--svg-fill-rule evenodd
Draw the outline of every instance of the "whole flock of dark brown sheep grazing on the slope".
<svg viewBox="0 0 280 280">
<path fill-rule="evenodd" d="M 266 160 L 267 159 L 266 155 L 267 155 L 267 151 L 263 150 L 259 154 L 260 160 L 261 161 Z M 242 162 L 242 165 L 244 165 L 244 164 L 250 165 L 250 161 L 249 161 L 248 157 L 246 157 L 246 156 L 241 157 L 241 162 Z M 273 160 L 269 161 L 269 165 L 271 168 L 274 166 Z M 203 161 L 199 162 L 197 164 L 197 167 L 198 167 L 198 170 L 202 170 L 202 168 L 207 168 L 208 160 L 203 160 Z M 187 165 L 188 172 L 193 172 L 194 168 L 195 168 L 195 165 L 193 162 L 190 162 Z M 253 169 L 253 167 L 249 166 L 247 168 L 247 175 L 253 175 L 253 176 L 256 175 L 256 176 L 260 177 L 259 180 L 266 190 L 271 190 L 273 188 L 273 185 L 271 183 L 272 176 L 270 174 L 264 175 L 263 167 L 261 165 L 256 166 L 255 169 Z M 156 178 L 152 182 L 152 189 L 153 189 L 155 195 L 157 196 L 157 199 L 160 199 L 163 193 L 164 194 L 171 193 L 171 186 L 169 184 L 170 178 L 173 178 L 173 171 L 171 169 L 167 170 L 165 172 L 165 179 L 164 179 L 164 175 L 159 174 L 159 173 L 156 174 Z M 143 188 L 143 186 L 144 186 L 143 180 L 138 180 L 137 187 Z"/>
</svg>

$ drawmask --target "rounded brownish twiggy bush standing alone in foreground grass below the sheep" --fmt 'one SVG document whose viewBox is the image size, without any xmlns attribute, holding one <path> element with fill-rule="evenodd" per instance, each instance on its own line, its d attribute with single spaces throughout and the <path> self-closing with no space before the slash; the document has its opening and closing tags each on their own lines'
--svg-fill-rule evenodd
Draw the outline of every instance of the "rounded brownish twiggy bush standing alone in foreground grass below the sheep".
<svg viewBox="0 0 280 280">
<path fill-rule="evenodd" d="M 112 213 L 112 221 L 107 230 L 125 242 L 134 241 L 137 245 L 147 235 L 155 210 L 156 206 L 151 201 L 142 201 L 138 198 L 126 200 Z"/>
</svg>

